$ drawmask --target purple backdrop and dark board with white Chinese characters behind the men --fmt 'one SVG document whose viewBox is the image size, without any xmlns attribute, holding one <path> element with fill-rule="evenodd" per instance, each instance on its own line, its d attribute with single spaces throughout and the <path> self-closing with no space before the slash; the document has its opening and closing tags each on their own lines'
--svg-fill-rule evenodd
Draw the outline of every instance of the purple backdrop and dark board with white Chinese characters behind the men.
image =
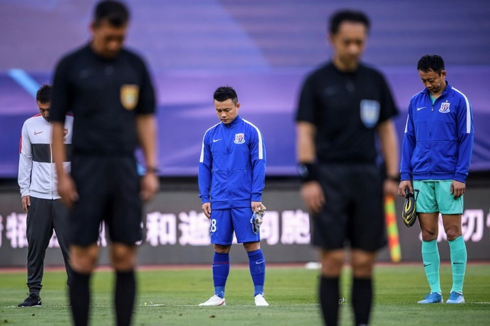
<svg viewBox="0 0 490 326">
<path fill-rule="evenodd" d="M 16 184 L 22 124 L 32 94 L 51 81 L 60 56 L 89 39 L 95 1 L 0 1 L 0 267 L 25 266 L 25 214 Z M 147 205 L 139 264 L 207 263 L 208 222 L 197 198 L 203 132 L 216 123 L 214 89 L 240 94 L 240 113 L 262 130 L 268 166 L 262 228 L 269 262 L 316 260 L 294 159 L 297 94 L 306 73 L 328 60 L 326 21 L 340 8 L 365 11 L 372 28 L 363 61 L 387 77 L 400 110 L 401 142 L 411 96 L 423 89 L 416 63 L 440 54 L 447 80 L 469 98 L 475 146 L 463 233 L 469 261 L 490 261 L 490 2 L 486 0 L 128 0 L 126 45 L 147 60 L 158 97 L 162 191 Z M 398 210 L 400 199 L 397 199 Z M 398 214 L 399 215 L 399 214 Z M 420 260 L 418 228 L 398 216 L 403 261 Z M 444 235 L 440 233 L 442 241 Z M 101 245 L 106 245 L 102 238 Z M 46 264 L 62 264 L 55 237 Z M 441 259 L 448 260 L 447 246 Z M 101 262 L 107 261 L 102 252 Z M 238 252 L 237 252 L 238 253 Z M 382 261 L 389 260 L 387 250 Z M 235 262 L 245 262 L 237 255 Z"/>
</svg>

